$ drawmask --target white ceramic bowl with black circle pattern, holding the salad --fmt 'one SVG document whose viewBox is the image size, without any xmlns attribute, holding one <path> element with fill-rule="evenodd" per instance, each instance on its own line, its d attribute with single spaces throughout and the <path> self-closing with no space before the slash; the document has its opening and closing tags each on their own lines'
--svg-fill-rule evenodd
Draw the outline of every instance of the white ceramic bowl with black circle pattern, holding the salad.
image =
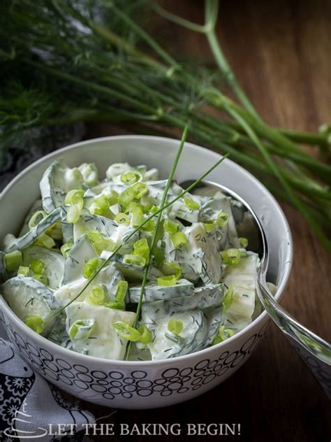
<svg viewBox="0 0 331 442">
<path fill-rule="evenodd" d="M 47 166 L 63 157 L 69 166 L 95 162 L 103 176 L 114 162 L 156 167 L 168 177 L 179 141 L 154 136 L 111 136 L 84 141 L 39 159 L 18 175 L 1 197 L 0 240 L 19 231 Z M 186 143 L 176 178 L 198 178 L 219 159 L 210 150 Z M 288 223 L 265 187 L 249 172 L 226 159 L 208 177 L 240 194 L 260 218 L 270 245 L 269 278 L 277 283 L 276 298 L 284 293 L 292 262 Z M 87 401 L 116 408 L 154 408 L 186 401 L 212 389 L 244 364 L 263 338 L 267 314 L 227 341 L 191 355 L 154 362 L 123 362 L 80 355 L 61 348 L 29 329 L 0 296 L 0 319 L 22 357 L 38 373 L 63 390 Z"/>
</svg>

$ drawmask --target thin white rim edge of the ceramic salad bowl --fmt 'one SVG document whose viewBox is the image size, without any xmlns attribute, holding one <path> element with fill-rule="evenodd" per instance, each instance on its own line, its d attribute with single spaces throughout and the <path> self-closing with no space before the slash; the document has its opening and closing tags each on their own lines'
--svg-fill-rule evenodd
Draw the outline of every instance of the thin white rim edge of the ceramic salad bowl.
<svg viewBox="0 0 331 442">
<path fill-rule="evenodd" d="M 5 195 L 7 192 L 9 192 L 10 188 L 13 187 L 13 185 L 15 185 L 17 182 L 19 182 L 23 176 L 25 176 L 27 173 L 29 173 L 29 171 L 34 169 L 36 166 L 39 166 L 39 164 L 46 162 L 48 159 L 51 159 L 52 157 L 58 157 L 59 155 L 61 155 L 62 152 L 66 152 L 68 150 L 75 150 L 77 148 L 80 148 L 82 145 L 86 145 L 86 144 L 90 144 L 90 143 L 97 143 L 97 142 L 107 142 L 107 141 L 112 141 L 115 139 L 117 139 L 117 140 L 118 139 L 123 139 L 123 140 L 140 139 L 141 141 L 148 139 L 150 141 L 154 140 L 156 142 L 157 141 L 163 141 L 163 142 L 177 141 L 177 143 L 179 143 L 178 138 L 171 138 L 171 137 L 165 137 L 165 136 L 135 135 L 135 134 L 103 136 L 103 137 L 90 138 L 90 139 L 84 140 L 84 141 L 78 141 L 78 143 L 73 143 L 71 145 L 64 146 L 63 148 L 54 150 L 53 152 L 50 152 L 49 154 L 47 154 L 41 158 L 38 158 L 38 159 L 36 159 L 36 161 L 29 164 L 29 166 L 27 166 L 25 169 L 20 171 L 20 173 L 18 173 L 17 176 L 15 176 L 13 178 L 13 180 L 10 180 L 10 182 L 6 185 L 6 187 L 1 192 L 1 197 L 3 197 L 3 195 Z M 215 155 L 218 155 L 219 157 L 222 156 L 219 152 L 214 152 L 214 150 L 204 148 L 203 146 L 196 145 L 194 143 L 186 142 L 185 144 L 189 148 L 191 148 L 191 149 L 193 148 L 193 150 L 201 151 L 201 150 L 206 149 L 206 150 L 211 151 Z M 273 200 L 274 206 L 276 206 L 277 210 L 281 214 L 281 218 L 283 219 L 284 224 L 286 225 L 286 234 L 287 234 L 287 240 L 288 240 L 288 253 L 287 253 L 286 257 L 284 257 L 284 259 L 286 259 L 287 265 L 284 270 L 284 274 L 281 279 L 281 283 L 277 287 L 277 292 L 276 292 L 276 294 L 274 294 L 275 299 L 277 299 L 277 301 L 278 301 L 279 299 L 281 299 L 281 297 L 284 294 L 284 291 L 286 290 L 286 286 L 288 284 L 288 278 L 290 276 L 290 270 L 292 268 L 292 263 L 293 263 L 293 238 L 292 238 L 292 234 L 290 231 L 290 226 L 288 224 L 288 220 L 286 219 L 284 211 L 282 210 L 278 201 L 274 198 L 274 196 L 271 194 L 271 192 L 269 190 L 267 190 L 267 187 L 265 187 L 260 182 L 260 180 L 258 180 L 258 178 L 253 176 L 253 174 L 251 172 L 247 171 L 247 169 L 244 169 L 244 167 L 242 167 L 240 164 L 237 164 L 233 160 L 226 158 L 225 161 L 231 162 L 231 163 L 235 164 L 235 166 L 237 166 L 238 168 L 242 169 L 243 173 L 249 175 L 249 177 L 255 181 L 256 185 L 261 187 L 264 192 L 267 192 L 267 194 L 269 194 L 269 196 Z M 240 332 L 238 332 L 237 334 L 226 339 L 226 341 L 223 341 L 223 342 L 218 343 L 216 345 L 212 345 L 211 347 L 203 348 L 202 350 L 198 350 L 193 353 L 189 353 L 188 355 L 176 356 L 176 357 L 172 357 L 169 359 L 156 359 L 156 360 L 147 360 L 147 361 L 125 361 L 125 360 L 105 359 L 103 357 L 83 355 L 82 353 L 78 353 L 78 352 L 75 352 L 75 351 L 70 350 L 68 348 L 61 347 L 61 345 L 50 341 L 49 339 L 45 338 L 44 336 L 41 336 L 40 334 L 37 334 L 32 329 L 27 327 L 27 325 L 20 318 L 18 318 L 18 316 L 10 309 L 10 307 L 8 306 L 6 301 L 3 299 L 1 294 L 0 294 L 0 304 L 2 304 L 2 308 L 8 313 L 8 315 L 10 315 L 10 318 L 13 320 L 13 322 L 17 322 L 18 327 L 20 327 L 20 329 L 24 329 L 27 336 L 30 337 L 32 339 L 32 341 L 37 341 L 38 345 L 43 346 L 43 345 L 47 344 L 47 346 L 49 346 L 51 350 L 54 350 L 57 352 L 64 352 L 65 355 L 74 357 L 75 359 L 82 358 L 83 360 L 87 359 L 87 361 L 89 361 L 89 362 L 95 362 L 98 364 L 110 364 L 112 366 L 124 366 L 124 367 L 126 367 L 126 366 L 128 366 L 128 367 L 129 366 L 132 366 L 132 367 L 139 366 L 141 368 L 143 366 L 168 365 L 172 361 L 182 362 L 184 359 L 185 360 L 194 359 L 200 355 L 201 356 L 206 355 L 207 353 L 214 351 L 216 349 L 219 350 L 219 349 L 223 348 L 224 346 L 228 345 L 228 343 L 235 343 L 235 341 L 239 341 L 242 338 L 242 336 L 244 336 L 245 334 L 249 334 L 249 331 L 251 329 L 253 329 L 254 327 L 256 327 L 256 325 L 258 325 L 259 322 L 264 322 L 264 320 L 268 316 L 267 312 L 264 310 L 249 325 L 247 325 L 247 327 L 244 327 L 244 329 L 240 330 Z M 269 318 L 269 320 L 270 320 L 270 318 Z M 3 326 L 4 326 L 4 329 L 6 330 L 6 323 L 4 323 Z"/>
</svg>

